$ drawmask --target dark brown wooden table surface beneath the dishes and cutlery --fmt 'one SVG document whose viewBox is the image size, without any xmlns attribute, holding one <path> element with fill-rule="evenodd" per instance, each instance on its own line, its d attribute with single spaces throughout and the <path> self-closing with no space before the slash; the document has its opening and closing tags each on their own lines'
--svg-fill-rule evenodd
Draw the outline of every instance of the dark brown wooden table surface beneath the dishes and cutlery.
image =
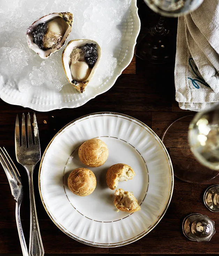
<svg viewBox="0 0 219 256">
<path fill-rule="evenodd" d="M 141 11 L 141 10 L 140 10 Z M 142 13 L 141 13 L 142 14 Z M 150 15 L 140 15 L 142 30 L 150 23 Z M 173 32 L 172 42 L 176 42 L 176 19 L 167 23 Z M 135 65 L 136 64 L 136 65 Z M 90 100 L 76 109 L 61 109 L 49 112 L 36 112 L 41 151 L 63 126 L 75 118 L 92 112 L 120 112 L 141 120 L 151 127 L 159 137 L 174 120 L 189 115 L 175 102 L 174 58 L 165 65 L 154 65 L 133 59 L 130 66 L 118 78 L 115 85 L 106 93 Z M 15 160 L 14 128 L 16 114 L 27 113 L 30 109 L 9 105 L 0 100 L 0 146 L 6 147 Z M 43 122 L 46 120 L 46 124 Z M 29 235 L 29 191 L 25 170 L 17 164 L 25 187 L 21 209 L 21 219 L 25 236 Z M 45 254 L 218 254 L 219 253 L 219 214 L 206 209 L 203 193 L 209 184 L 219 183 L 214 178 L 206 184 L 190 184 L 175 178 L 171 203 L 159 224 L 142 239 L 118 248 L 95 248 L 77 242 L 59 230 L 47 215 L 38 191 L 38 167 L 35 168 L 35 194 Z M 0 254 L 21 253 L 15 222 L 15 201 L 10 187 L 0 167 Z M 182 221 L 190 213 L 207 214 L 215 221 L 216 234 L 206 243 L 191 242 L 182 233 Z"/>
</svg>

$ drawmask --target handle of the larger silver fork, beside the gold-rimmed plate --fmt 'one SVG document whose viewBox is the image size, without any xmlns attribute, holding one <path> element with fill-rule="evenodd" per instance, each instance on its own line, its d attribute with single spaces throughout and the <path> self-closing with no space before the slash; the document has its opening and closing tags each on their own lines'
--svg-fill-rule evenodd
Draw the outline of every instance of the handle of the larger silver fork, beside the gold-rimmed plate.
<svg viewBox="0 0 219 256">
<path fill-rule="evenodd" d="M 39 231 L 39 223 L 37 218 L 37 210 L 33 189 L 33 168 L 34 166 L 25 166 L 28 171 L 29 188 L 30 188 L 30 242 L 29 256 L 43 256 L 44 249 Z"/>
</svg>

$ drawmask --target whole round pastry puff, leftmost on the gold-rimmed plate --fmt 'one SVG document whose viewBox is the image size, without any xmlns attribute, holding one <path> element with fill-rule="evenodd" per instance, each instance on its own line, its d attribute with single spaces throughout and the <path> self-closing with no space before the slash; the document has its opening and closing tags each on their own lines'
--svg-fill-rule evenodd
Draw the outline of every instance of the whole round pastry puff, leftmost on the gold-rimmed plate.
<svg viewBox="0 0 219 256">
<path fill-rule="evenodd" d="M 77 168 L 68 176 L 68 187 L 75 195 L 88 196 L 96 188 L 97 180 L 94 173 L 86 168 Z"/>
</svg>

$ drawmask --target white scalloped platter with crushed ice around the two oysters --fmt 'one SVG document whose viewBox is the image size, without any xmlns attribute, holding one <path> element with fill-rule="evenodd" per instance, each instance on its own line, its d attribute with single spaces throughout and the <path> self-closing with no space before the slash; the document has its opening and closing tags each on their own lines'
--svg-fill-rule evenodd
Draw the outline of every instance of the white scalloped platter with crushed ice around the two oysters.
<svg viewBox="0 0 219 256">
<path fill-rule="evenodd" d="M 2 39 L 1 43 L 0 40 L 0 98 L 9 104 L 21 105 L 37 111 L 50 111 L 80 107 L 97 95 L 109 90 L 122 71 L 130 64 L 134 55 L 136 39 L 141 25 L 136 1 L 105 0 L 105 4 L 103 4 L 96 0 L 77 0 L 69 1 L 69 8 L 64 8 L 66 1 L 62 0 L 56 0 L 54 4 L 48 4 L 43 0 L 36 2 L 21 0 L 18 4 L 10 0 L 8 5 L 12 2 L 12 8 L 6 6 L 5 10 L 4 6 L 7 3 L 4 3 L 2 7 L 0 6 L 0 36 L 7 38 L 7 41 Z M 121 9 L 122 4 L 126 5 L 126 8 Z M 30 6 L 33 7 L 30 8 Z M 99 10 L 99 6 L 102 9 Z M 89 13 L 91 9 L 92 14 Z M 30 10 L 32 13 L 29 13 Z M 95 12 L 101 13 L 103 10 L 108 10 L 112 16 L 105 19 L 102 15 L 101 18 L 95 20 Z M 62 68 L 61 54 L 68 42 L 61 50 L 46 60 L 41 59 L 28 48 L 25 32 L 29 25 L 40 17 L 53 12 L 73 13 L 74 22 L 68 41 L 86 38 L 97 41 L 101 46 L 103 54 L 100 65 L 83 94 L 77 92 L 68 83 Z M 18 13 L 19 15 L 17 15 Z M 13 14 L 15 14 L 15 20 L 13 23 L 9 23 L 7 17 L 12 19 Z M 24 16 L 27 19 L 24 19 Z M 21 23 L 19 17 L 22 17 Z M 82 24 L 86 24 L 88 28 L 85 27 L 84 29 Z M 11 26 L 10 29 L 9 25 Z M 79 25 L 82 29 L 77 29 Z M 112 36 L 99 39 L 98 35 L 103 33 Z M 26 57 L 24 57 L 24 53 L 27 54 Z M 111 69 L 107 70 L 106 63 L 110 63 Z M 18 66 L 21 67 L 21 70 Z M 57 67 L 57 72 L 60 74 L 60 77 L 55 74 L 54 80 L 50 75 L 50 68 L 53 66 L 54 69 Z M 41 79 L 42 84 L 39 85 Z"/>
</svg>

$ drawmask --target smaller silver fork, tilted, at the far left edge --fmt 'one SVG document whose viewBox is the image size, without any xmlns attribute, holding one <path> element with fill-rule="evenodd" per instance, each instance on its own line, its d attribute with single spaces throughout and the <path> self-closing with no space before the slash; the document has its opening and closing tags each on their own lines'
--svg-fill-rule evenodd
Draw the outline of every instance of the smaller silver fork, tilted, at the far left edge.
<svg viewBox="0 0 219 256">
<path fill-rule="evenodd" d="M 21 175 L 4 147 L 3 149 L 0 147 L 0 162 L 7 175 L 8 182 L 12 191 L 12 196 L 16 201 L 15 217 L 22 253 L 24 256 L 29 256 L 20 218 L 20 206 L 23 199 Z"/>
</svg>

